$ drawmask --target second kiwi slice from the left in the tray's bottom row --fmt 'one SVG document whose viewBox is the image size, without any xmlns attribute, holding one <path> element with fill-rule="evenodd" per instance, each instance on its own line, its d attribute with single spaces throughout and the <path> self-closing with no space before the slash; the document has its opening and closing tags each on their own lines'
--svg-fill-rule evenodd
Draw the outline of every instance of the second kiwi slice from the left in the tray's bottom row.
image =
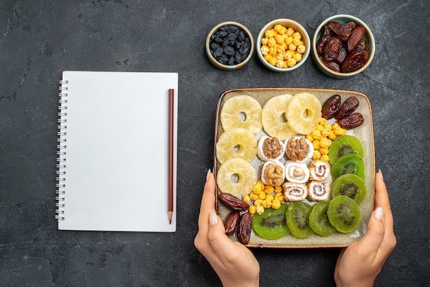
<svg viewBox="0 0 430 287">
<path fill-rule="evenodd" d="M 303 201 L 296 201 L 288 205 L 286 224 L 296 238 L 308 238 L 313 235 L 314 232 L 309 226 L 310 212 L 312 212 L 312 206 Z"/>
</svg>

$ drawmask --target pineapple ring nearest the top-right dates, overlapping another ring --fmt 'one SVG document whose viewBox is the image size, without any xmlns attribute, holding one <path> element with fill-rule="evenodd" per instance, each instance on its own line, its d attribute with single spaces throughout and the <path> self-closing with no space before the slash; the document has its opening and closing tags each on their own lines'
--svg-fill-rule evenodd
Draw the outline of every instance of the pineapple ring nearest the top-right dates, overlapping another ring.
<svg viewBox="0 0 430 287">
<path fill-rule="evenodd" d="M 286 108 L 288 125 L 297 133 L 306 135 L 315 130 L 321 118 L 321 102 L 311 93 L 297 93 Z"/>
</svg>

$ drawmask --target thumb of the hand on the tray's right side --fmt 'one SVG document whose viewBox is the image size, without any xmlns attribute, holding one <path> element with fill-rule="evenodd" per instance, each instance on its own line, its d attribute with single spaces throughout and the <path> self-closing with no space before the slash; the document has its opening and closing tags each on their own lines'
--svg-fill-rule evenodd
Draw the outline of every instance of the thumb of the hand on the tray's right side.
<svg viewBox="0 0 430 287">
<path fill-rule="evenodd" d="M 374 254 L 374 256 L 376 256 L 385 234 L 383 216 L 384 210 L 382 207 L 378 207 L 373 211 L 367 224 L 367 231 L 359 241 L 359 244 L 363 247 L 361 250 Z"/>
</svg>

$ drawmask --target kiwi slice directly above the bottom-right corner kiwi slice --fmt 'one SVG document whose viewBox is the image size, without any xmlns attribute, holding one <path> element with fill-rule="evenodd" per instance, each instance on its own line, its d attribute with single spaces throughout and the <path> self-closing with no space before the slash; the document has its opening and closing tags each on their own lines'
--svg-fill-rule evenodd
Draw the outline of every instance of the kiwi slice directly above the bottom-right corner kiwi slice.
<svg viewBox="0 0 430 287">
<path fill-rule="evenodd" d="M 366 198 L 367 190 L 363 179 L 355 174 L 343 174 L 332 185 L 332 198 L 346 195 L 360 205 Z"/>
</svg>

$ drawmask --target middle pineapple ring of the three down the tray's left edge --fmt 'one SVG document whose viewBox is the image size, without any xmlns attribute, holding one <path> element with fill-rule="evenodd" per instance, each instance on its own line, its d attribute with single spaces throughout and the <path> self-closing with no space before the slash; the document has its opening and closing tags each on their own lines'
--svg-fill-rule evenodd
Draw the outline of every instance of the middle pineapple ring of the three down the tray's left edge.
<svg viewBox="0 0 430 287">
<path fill-rule="evenodd" d="M 257 154 L 256 136 L 245 128 L 234 128 L 220 135 L 216 142 L 216 159 L 224 163 L 238 157 L 251 162 Z"/>
</svg>

